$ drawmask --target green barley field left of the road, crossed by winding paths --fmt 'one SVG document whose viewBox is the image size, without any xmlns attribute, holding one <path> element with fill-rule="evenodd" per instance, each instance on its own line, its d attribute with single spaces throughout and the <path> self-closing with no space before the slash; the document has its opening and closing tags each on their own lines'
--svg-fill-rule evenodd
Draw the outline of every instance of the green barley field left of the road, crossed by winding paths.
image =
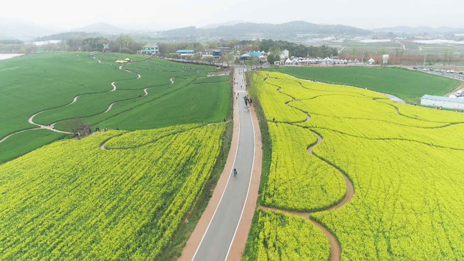
<svg viewBox="0 0 464 261">
<path fill-rule="evenodd" d="M 116 63 L 124 59 L 129 63 Z M 230 78 L 206 77 L 214 71 L 213 66 L 122 53 L 41 53 L 2 60 L 0 110 L 7 113 L 0 114 L 0 139 L 37 128 L 28 119 L 39 111 L 34 123 L 56 123 L 57 130 L 68 132 L 76 120 L 92 129 L 122 130 L 223 121 L 231 117 Z M 0 163 L 65 136 L 47 131 L 8 137 L 0 143 Z"/>
</svg>

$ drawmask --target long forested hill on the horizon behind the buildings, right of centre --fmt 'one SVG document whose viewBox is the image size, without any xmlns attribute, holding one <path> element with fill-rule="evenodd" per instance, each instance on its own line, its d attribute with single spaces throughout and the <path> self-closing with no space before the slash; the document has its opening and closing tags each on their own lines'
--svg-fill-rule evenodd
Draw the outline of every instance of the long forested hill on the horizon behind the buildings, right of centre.
<svg viewBox="0 0 464 261">
<path fill-rule="evenodd" d="M 372 32 L 353 26 L 318 25 L 305 21 L 292 21 L 283 24 L 239 23 L 233 26 L 218 26 L 216 28 L 197 28 L 189 26 L 162 32 L 163 36 L 295 36 L 296 34 L 357 34 L 369 35 Z"/>
</svg>

